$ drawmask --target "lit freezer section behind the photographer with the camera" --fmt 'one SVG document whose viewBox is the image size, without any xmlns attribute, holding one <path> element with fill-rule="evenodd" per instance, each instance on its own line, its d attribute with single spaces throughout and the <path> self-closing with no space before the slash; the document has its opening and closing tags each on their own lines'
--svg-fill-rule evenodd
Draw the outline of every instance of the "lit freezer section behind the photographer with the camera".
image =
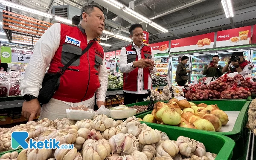
<svg viewBox="0 0 256 160">
<path fill-rule="evenodd" d="M 244 58 L 249 61 L 250 60 L 250 49 L 247 50 L 234 50 L 228 52 L 217 52 L 217 55 L 220 56 L 219 65 L 224 67 L 227 64 L 228 58 L 232 56 L 233 52 L 244 52 Z"/>
</svg>

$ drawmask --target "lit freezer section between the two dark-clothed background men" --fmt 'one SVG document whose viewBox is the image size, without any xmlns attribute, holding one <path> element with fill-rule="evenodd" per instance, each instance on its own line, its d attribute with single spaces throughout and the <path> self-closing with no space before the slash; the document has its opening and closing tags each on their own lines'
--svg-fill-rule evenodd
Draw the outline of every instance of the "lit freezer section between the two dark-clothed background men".
<svg viewBox="0 0 256 160">
<path fill-rule="evenodd" d="M 196 76 L 197 79 L 205 76 L 203 74 L 204 67 L 210 63 L 213 55 L 216 55 L 216 53 L 200 53 L 191 55 L 191 82 L 194 82 L 194 76 Z"/>
</svg>

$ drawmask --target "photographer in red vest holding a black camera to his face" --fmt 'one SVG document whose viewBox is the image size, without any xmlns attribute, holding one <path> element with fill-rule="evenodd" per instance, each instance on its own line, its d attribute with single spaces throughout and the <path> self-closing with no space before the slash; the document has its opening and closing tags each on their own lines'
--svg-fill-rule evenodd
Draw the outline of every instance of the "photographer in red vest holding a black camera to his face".
<svg viewBox="0 0 256 160">
<path fill-rule="evenodd" d="M 238 72 L 245 76 L 252 72 L 253 64 L 244 59 L 243 52 L 233 52 L 232 56 L 228 59 L 228 64 L 223 67 L 222 72 L 225 73 L 228 70 L 231 73 Z"/>
</svg>

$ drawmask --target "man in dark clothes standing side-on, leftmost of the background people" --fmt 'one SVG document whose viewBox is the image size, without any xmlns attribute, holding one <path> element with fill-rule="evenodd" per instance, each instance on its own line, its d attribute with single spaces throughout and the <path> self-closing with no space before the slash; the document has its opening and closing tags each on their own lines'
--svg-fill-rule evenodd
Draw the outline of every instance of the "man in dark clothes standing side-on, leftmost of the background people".
<svg viewBox="0 0 256 160">
<path fill-rule="evenodd" d="M 186 80 L 182 79 L 182 76 L 186 76 L 187 73 L 190 73 L 190 70 L 186 70 L 185 64 L 189 61 L 189 57 L 184 55 L 181 58 L 181 62 L 177 65 L 176 78 L 175 81 L 179 86 L 183 86 L 186 84 Z"/>
</svg>

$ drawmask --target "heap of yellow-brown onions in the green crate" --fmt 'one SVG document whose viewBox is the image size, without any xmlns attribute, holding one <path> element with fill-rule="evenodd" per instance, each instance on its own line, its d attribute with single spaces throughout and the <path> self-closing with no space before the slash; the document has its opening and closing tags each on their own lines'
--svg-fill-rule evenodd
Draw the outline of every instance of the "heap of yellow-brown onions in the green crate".
<svg viewBox="0 0 256 160">
<path fill-rule="evenodd" d="M 220 131 L 228 122 L 227 113 L 217 105 L 206 105 L 171 99 L 168 103 L 157 102 L 151 114 L 144 116 L 143 121 L 163 125 L 176 125 L 206 131 Z"/>
</svg>

